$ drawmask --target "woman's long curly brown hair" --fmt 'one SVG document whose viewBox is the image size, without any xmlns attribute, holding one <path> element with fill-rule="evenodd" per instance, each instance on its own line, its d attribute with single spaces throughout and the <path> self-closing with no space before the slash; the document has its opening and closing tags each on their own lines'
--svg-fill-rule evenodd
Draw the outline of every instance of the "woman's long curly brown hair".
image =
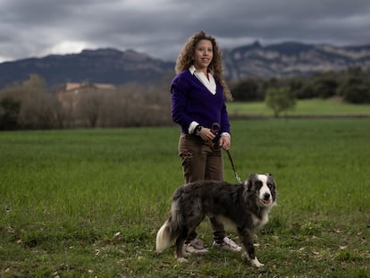
<svg viewBox="0 0 370 278">
<path fill-rule="evenodd" d="M 212 72 L 214 78 L 221 83 L 223 87 L 223 97 L 226 100 L 232 100 L 232 95 L 229 87 L 227 86 L 225 80 L 223 80 L 223 55 L 218 47 L 217 42 L 214 37 L 206 35 L 204 31 L 198 31 L 193 36 L 191 36 L 180 51 L 177 57 L 175 72 L 183 72 L 194 63 L 193 55 L 198 42 L 202 39 L 209 40 L 212 43 L 214 57 L 212 62 L 208 66 L 208 71 Z"/>
</svg>

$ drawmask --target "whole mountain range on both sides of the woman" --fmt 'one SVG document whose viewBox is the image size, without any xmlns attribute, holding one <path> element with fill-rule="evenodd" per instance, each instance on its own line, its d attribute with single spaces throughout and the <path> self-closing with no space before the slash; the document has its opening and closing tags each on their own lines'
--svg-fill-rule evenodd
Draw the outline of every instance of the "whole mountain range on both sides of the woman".
<svg viewBox="0 0 370 278">
<path fill-rule="evenodd" d="M 246 76 L 282 77 L 313 72 L 340 71 L 353 66 L 370 68 L 369 46 L 309 45 L 283 42 L 262 46 L 223 49 L 225 77 L 240 80 Z M 80 54 L 48 55 L 0 63 L 0 88 L 26 80 L 38 73 L 52 87 L 66 82 L 111 83 L 153 82 L 173 74 L 174 62 L 164 62 L 134 50 L 113 48 L 83 50 Z"/>
</svg>

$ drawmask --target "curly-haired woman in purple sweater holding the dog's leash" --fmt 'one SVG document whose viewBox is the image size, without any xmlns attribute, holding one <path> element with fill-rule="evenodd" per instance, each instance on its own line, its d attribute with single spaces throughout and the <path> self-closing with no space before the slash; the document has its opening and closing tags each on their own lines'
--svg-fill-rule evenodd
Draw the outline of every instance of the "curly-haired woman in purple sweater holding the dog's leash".
<svg viewBox="0 0 370 278">
<path fill-rule="evenodd" d="M 172 120 L 181 126 L 179 156 L 185 182 L 223 181 L 222 148 L 231 146 L 225 100 L 231 92 L 223 80 L 222 55 L 215 39 L 199 31 L 188 39 L 177 58 L 172 80 Z M 223 223 L 210 219 L 214 247 L 240 251 L 226 236 Z M 192 232 L 186 241 L 189 253 L 203 254 L 202 240 Z"/>
</svg>

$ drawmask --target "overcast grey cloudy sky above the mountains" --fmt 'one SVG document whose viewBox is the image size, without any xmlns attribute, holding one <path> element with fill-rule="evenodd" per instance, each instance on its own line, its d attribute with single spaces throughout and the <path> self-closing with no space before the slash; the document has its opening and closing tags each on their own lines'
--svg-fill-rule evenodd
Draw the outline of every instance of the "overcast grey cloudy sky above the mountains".
<svg viewBox="0 0 370 278">
<path fill-rule="evenodd" d="M 0 0 L 0 63 L 101 47 L 174 61 L 199 29 L 222 48 L 370 45 L 370 1 Z"/>
</svg>

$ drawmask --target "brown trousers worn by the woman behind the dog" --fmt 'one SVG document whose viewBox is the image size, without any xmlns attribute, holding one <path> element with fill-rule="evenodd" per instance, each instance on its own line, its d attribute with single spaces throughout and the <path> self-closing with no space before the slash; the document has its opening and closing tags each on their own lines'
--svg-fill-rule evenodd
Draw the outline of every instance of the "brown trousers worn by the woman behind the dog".
<svg viewBox="0 0 370 278">
<path fill-rule="evenodd" d="M 181 133 L 179 139 L 179 156 L 185 182 L 199 180 L 223 181 L 223 154 L 218 144 L 213 147 L 195 135 Z M 223 242 L 226 232 L 223 223 L 210 218 L 214 230 L 214 241 Z M 197 238 L 197 232 L 192 232 L 188 239 Z"/>
</svg>

